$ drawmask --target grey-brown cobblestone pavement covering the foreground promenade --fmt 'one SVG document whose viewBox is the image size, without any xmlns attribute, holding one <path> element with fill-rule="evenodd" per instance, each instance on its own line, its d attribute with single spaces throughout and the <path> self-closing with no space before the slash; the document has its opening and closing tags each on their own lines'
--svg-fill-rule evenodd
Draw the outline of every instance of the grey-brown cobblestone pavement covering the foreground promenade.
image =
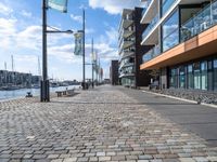
<svg viewBox="0 0 217 162">
<path fill-rule="evenodd" d="M 0 162 L 207 162 L 217 148 L 105 85 L 0 104 Z"/>
</svg>

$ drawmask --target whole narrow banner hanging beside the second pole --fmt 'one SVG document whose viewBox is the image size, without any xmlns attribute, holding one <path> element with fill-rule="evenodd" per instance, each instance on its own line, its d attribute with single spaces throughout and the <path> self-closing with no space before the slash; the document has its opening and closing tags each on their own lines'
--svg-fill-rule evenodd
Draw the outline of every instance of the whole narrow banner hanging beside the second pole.
<svg viewBox="0 0 217 162">
<path fill-rule="evenodd" d="M 75 51 L 74 54 L 82 56 L 82 32 L 76 32 L 75 35 Z"/>
</svg>

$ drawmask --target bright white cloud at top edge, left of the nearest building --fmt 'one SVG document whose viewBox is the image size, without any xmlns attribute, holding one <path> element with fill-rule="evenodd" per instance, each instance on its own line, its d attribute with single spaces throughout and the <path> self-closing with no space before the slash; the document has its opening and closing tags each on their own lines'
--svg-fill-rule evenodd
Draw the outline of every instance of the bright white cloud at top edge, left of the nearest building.
<svg viewBox="0 0 217 162">
<path fill-rule="evenodd" d="M 110 14 L 120 14 L 123 9 L 140 6 L 140 0 L 89 0 L 93 9 L 103 9 Z"/>
</svg>

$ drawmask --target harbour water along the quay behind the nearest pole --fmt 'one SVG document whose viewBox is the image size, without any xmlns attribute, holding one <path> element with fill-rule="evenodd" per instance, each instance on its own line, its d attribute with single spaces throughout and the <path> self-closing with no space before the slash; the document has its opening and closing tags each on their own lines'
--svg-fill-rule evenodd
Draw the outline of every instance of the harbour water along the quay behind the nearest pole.
<svg viewBox="0 0 217 162">
<path fill-rule="evenodd" d="M 50 87 L 50 92 L 62 91 L 62 90 L 65 90 L 66 87 L 68 90 L 79 89 L 79 85 Z M 21 89 L 21 90 L 14 90 L 14 91 L 0 91 L 0 100 L 25 97 L 27 92 L 31 92 L 34 96 L 40 95 L 40 89 Z"/>
</svg>

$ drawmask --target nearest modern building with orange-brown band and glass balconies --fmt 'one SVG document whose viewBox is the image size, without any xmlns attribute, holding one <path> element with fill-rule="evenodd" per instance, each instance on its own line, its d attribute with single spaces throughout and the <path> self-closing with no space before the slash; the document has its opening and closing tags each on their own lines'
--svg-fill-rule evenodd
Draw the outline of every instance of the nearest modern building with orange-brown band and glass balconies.
<svg viewBox="0 0 217 162">
<path fill-rule="evenodd" d="M 217 1 L 142 0 L 140 69 L 159 69 L 162 89 L 217 91 Z"/>
</svg>

